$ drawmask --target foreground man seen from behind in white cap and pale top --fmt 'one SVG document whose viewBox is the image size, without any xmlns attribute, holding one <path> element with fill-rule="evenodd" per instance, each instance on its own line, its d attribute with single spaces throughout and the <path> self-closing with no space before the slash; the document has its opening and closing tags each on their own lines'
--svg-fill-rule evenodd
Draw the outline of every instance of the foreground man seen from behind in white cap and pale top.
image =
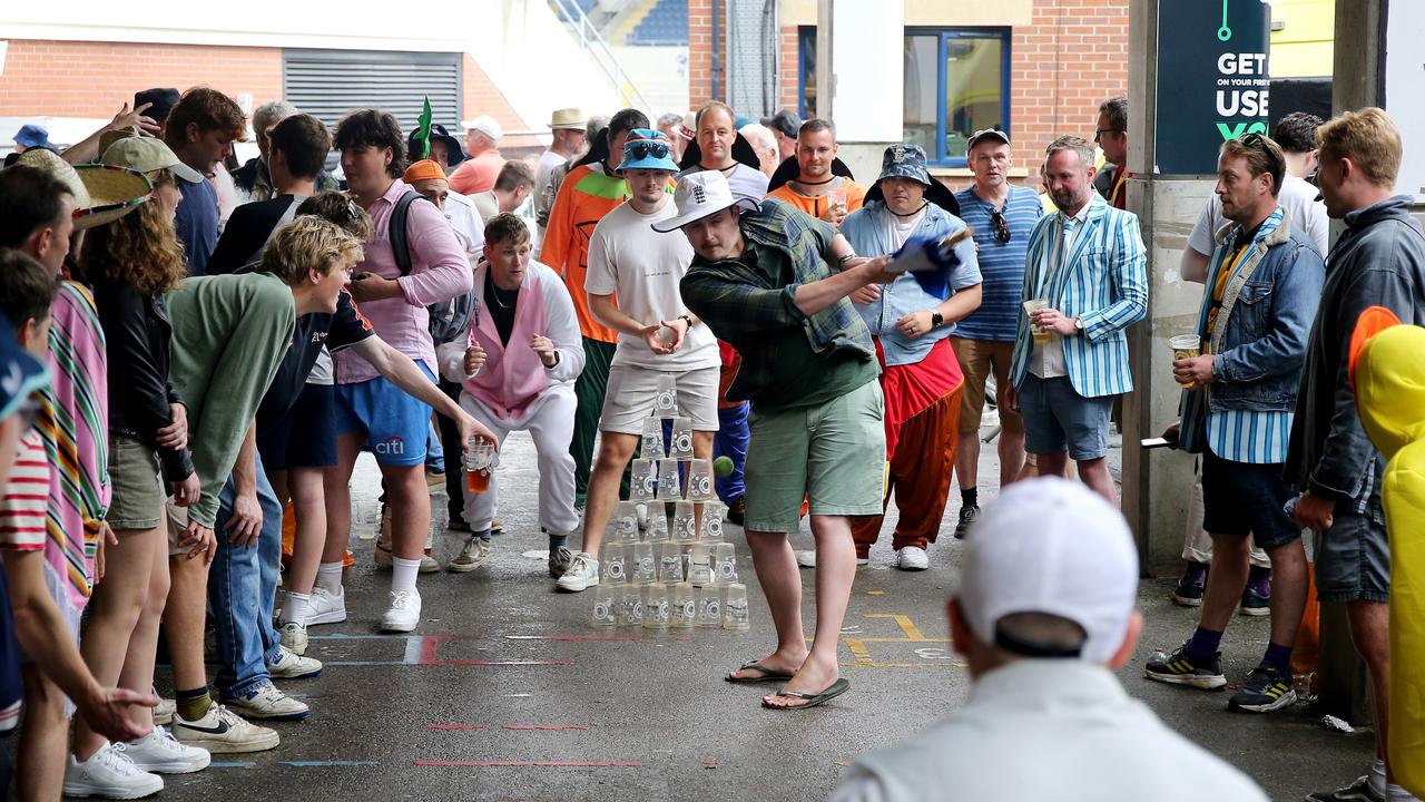
<svg viewBox="0 0 1425 802">
<path fill-rule="evenodd" d="M 1110 674 L 1133 655 L 1143 616 L 1133 537 L 1107 501 L 1060 478 L 1019 482 L 968 545 L 946 614 L 975 679 L 969 699 L 858 758 L 834 802 L 1267 799 Z"/>
</svg>

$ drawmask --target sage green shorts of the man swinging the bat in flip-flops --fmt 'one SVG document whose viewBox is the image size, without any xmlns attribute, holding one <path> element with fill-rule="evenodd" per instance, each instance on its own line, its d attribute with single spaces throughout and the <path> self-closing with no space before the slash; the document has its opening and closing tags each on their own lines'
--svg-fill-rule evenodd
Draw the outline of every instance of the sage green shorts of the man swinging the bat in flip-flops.
<svg viewBox="0 0 1425 802">
<path fill-rule="evenodd" d="M 881 382 L 818 404 L 748 417 L 747 528 L 795 532 L 812 515 L 881 515 L 886 432 Z"/>
</svg>

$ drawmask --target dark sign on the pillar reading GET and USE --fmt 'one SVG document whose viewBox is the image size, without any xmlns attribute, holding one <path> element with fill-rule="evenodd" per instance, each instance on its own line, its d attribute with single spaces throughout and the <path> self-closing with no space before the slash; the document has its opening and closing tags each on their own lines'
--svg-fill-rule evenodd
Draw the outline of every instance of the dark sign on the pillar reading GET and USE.
<svg viewBox="0 0 1425 802">
<path fill-rule="evenodd" d="M 1267 133 L 1270 29 L 1261 0 L 1160 0 L 1160 174 L 1217 173 L 1223 141 Z"/>
</svg>

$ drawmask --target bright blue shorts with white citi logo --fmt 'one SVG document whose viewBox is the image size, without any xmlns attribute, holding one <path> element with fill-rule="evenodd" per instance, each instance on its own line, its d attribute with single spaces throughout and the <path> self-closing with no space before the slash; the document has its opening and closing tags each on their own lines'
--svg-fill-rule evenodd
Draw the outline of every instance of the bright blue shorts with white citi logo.
<svg viewBox="0 0 1425 802">
<path fill-rule="evenodd" d="M 423 362 L 420 372 L 435 384 L 436 377 Z M 406 394 L 385 377 L 356 384 L 336 385 L 336 435 L 362 434 L 362 447 L 382 465 L 420 465 L 426 461 L 426 432 L 430 431 L 430 405 Z"/>
</svg>

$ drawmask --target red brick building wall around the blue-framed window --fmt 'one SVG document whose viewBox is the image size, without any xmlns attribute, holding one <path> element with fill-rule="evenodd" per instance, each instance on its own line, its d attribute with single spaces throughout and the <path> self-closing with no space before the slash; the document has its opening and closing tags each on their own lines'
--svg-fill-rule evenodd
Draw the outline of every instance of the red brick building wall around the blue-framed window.
<svg viewBox="0 0 1425 802">
<path fill-rule="evenodd" d="M 688 0 L 694 107 L 712 97 L 712 4 Z M 778 78 L 788 108 L 798 104 L 797 47 L 797 27 L 782 26 Z M 1035 0 L 1032 24 L 1012 29 L 1010 134 L 1016 166 L 1029 170 L 1029 183 L 1037 183 L 1040 154 L 1054 137 L 1093 137 L 1099 103 L 1127 93 L 1127 59 L 1129 0 Z"/>
</svg>

